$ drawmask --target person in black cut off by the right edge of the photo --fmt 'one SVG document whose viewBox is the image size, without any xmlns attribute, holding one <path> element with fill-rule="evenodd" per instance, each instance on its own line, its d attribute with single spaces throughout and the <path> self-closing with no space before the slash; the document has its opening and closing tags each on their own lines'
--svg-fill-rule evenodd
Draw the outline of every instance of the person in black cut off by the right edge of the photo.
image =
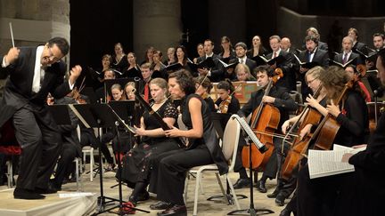
<svg viewBox="0 0 385 216">
<path fill-rule="evenodd" d="M 377 77 L 381 79 L 382 86 L 385 85 L 385 52 L 379 52 L 376 68 Z M 342 162 L 348 162 L 355 166 L 353 177 L 348 179 L 353 182 L 354 187 L 347 190 L 349 193 L 340 193 L 338 201 L 345 203 L 336 205 L 336 213 L 345 215 L 383 215 L 383 197 L 385 196 L 385 115 L 381 115 L 376 131 L 369 140 L 366 149 L 356 155 L 346 154 Z M 359 147 L 359 146 L 358 146 Z M 345 184 L 346 182 L 344 182 Z"/>
</svg>

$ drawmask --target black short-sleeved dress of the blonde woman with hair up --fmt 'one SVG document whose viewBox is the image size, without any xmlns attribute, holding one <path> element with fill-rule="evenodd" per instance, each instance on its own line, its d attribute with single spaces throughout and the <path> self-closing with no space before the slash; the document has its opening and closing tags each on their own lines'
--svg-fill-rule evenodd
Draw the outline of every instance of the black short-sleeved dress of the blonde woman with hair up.
<svg viewBox="0 0 385 216">
<path fill-rule="evenodd" d="M 158 110 L 157 113 L 162 117 L 172 117 L 177 119 L 178 113 L 174 104 L 166 101 Z M 143 113 L 144 124 L 146 130 L 160 128 L 160 124 L 156 118 L 149 114 Z M 146 137 L 143 136 L 139 145 L 132 148 L 126 156 L 123 157 L 122 180 L 127 182 L 130 188 L 135 187 L 136 182 L 150 183 L 150 191 L 156 192 L 156 175 L 155 178 L 151 172 L 153 169 L 153 157 L 160 153 L 178 149 L 178 143 L 175 139 L 167 137 Z M 118 175 L 117 175 L 118 176 Z M 154 180 L 155 179 L 155 180 Z"/>
</svg>

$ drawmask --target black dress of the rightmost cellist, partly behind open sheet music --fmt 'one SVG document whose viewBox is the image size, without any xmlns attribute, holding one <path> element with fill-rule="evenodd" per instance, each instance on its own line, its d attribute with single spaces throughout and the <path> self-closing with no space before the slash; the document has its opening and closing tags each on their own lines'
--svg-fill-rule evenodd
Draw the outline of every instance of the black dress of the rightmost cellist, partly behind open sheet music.
<svg viewBox="0 0 385 216">
<path fill-rule="evenodd" d="M 368 111 L 364 98 L 354 91 L 347 92 L 346 100 L 340 104 L 341 113 L 336 120 L 340 130 L 333 143 L 351 147 L 364 143 L 368 131 Z M 331 215 L 345 201 L 339 194 L 351 194 L 358 187 L 352 181 L 354 172 L 310 180 L 308 166 L 299 171 L 298 176 L 298 215 Z"/>
</svg>

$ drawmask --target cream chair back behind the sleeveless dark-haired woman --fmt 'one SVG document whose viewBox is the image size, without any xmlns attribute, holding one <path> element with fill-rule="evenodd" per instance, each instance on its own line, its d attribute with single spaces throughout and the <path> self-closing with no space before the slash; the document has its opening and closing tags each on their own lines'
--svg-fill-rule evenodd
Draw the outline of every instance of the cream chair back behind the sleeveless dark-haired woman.
<svg viewBox="0 0 385 216">
<path fill-rule="evenodd" d="M 241 133 L 241 125 L 231 116 L 225 126 L 224 138 L 222 142 L 222 152 L 225 160 L 234 159 L 238 148 L 239 137 Z"/>
</svg>

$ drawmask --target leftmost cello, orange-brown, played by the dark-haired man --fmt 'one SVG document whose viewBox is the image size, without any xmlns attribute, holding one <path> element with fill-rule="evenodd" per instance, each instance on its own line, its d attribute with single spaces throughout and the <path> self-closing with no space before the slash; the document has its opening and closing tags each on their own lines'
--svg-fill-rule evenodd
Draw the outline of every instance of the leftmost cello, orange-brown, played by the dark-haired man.
<svg viewBox="0 0 385 216">
<path fill-rule="evenodd" d="M 274 69 L 274 76 L 271 78 L 267 84 L 264 96 L 267 96 L 278 79 L 283 77 L 283 71 L 281 68 Z M 262 97 L 262 98 L 263 98 Z M 251 115 L 251 124 L 250 128 L 256 134 L 258 140 L 260 140 L 268 148 L 265 153 L 260 153 L 256 145 L 245 146 L 242 148 L 242 164 L 245 168 L 255 169 L 257 167 L 264 168 L 267 164 L 268 159 L 273 153 L 274 143 L 273 136 L 275 130 L 278 127 L 280 122 L 280 111 L 278 108 L 275 108 L 273 105 L 264 103 L 261 99 L 261 102 Z M 252 167 L 250 166 L 250 149 L 253 153 L 251 155 Z"/>
</svg>

